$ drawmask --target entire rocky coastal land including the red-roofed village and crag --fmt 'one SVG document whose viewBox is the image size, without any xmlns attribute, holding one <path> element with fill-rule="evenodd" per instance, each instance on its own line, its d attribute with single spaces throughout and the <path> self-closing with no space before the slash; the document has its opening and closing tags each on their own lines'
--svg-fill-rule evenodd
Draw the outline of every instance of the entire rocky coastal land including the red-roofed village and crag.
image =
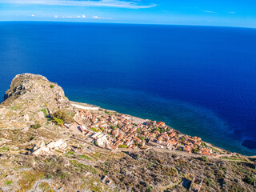
<svg viewBox="0 0 256 192">
<path fill-rule="evenodd" d="M 39 75 L 19 75 L 6 93 L 2 190 L 254 191 L 256 158 L 212 150 L 164 122 L 70 102 Z"/>
</svg>

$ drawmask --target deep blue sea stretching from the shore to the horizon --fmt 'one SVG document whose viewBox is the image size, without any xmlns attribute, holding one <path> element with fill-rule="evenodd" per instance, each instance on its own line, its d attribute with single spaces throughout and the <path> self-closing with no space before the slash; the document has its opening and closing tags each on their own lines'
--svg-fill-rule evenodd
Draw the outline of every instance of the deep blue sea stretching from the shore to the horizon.
<svg viewBox="0 0 256 192">
<path fill-rule="evenodd" d="M 0 22 L 0 95 L 16 74 L 66 96 L 256 154 L 256 29 Z"/>
</svg>

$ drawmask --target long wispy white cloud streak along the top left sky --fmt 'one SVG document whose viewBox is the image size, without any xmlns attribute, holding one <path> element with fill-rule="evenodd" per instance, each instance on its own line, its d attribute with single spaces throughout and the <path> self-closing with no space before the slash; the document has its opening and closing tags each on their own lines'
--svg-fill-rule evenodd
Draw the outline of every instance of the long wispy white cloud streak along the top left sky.
<svg viewBox="0 0 256 192">
<path fill-rule="evenodd" d="M 139 1 L 126 2 L 124 0 L 0 0 L 0 3 L 12 4 L 38 4 L 50 6 L 110 6 L 129 9 L 145 9 L 157 6 L 156 4 L 142 4 Z"/>
</svg>

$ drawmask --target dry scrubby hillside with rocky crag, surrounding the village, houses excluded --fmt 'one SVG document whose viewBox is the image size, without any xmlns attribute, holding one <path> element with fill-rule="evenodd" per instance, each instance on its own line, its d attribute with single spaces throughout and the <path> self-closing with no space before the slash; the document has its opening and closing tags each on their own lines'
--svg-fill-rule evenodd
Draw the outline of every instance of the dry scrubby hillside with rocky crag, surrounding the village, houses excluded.
<svg viewBox="0 0 256 192">
<path fill-rule="evenodd" d="M 71 127 L 89 121 L 57 83 L 18 74 L 0 105 L 0 191 L 256 191 L 255 158 L 110 150 Z"/>
</svg>

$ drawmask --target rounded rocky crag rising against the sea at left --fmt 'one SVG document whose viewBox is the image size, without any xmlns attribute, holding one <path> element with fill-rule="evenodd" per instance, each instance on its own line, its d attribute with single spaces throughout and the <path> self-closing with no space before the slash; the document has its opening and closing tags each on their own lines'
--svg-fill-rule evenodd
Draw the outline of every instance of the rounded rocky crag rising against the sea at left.
<svg viewBox="0 0 256 192">
<path fill-rule="evenodd" d="M 18 74 L 4 95 L 4 103 L 22 102 L 23 106 L 70 107 L 62 87 L 38 74 Z"/>
</svg>

